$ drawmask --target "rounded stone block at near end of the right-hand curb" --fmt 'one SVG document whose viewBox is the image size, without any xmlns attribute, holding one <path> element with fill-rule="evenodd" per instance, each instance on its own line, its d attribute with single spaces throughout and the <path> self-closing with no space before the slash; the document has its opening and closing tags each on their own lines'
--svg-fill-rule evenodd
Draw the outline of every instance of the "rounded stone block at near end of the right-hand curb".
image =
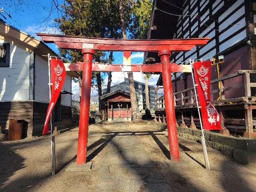
<svg viewBox="0 0 256 192">
<path fill-rule="evenodd" d="M 233 150 L 233 157 L 240 164 L 256 164 L 256 152 L 236 148 Z"/>
</svg>

